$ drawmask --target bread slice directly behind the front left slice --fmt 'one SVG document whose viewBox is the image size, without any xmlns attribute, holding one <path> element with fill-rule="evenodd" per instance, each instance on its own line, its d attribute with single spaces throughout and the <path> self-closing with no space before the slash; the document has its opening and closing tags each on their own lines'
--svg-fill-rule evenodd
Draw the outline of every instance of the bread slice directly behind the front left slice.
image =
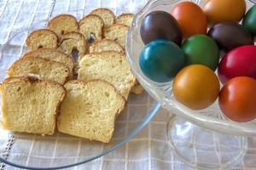
<svg viewBox="0 0 256 170">
<path fill-rule="evenodd" d="M 43 80 L 64 84 L 69 77 L 66 65 L 39 57 L 22 57 L 15 61 L 8 71 L 9 77 L 34 75 Z"/>
</svg>

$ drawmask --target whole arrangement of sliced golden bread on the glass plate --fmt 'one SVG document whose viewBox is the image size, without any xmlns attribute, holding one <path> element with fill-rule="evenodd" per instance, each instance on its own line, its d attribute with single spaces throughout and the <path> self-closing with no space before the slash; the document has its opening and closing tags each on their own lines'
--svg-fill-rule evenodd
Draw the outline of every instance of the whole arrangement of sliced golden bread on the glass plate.
<svg viewBox="0 0 256 170">
<path fill-rule="evenodd" d="M 79 21 L 60 14 L 32 31 L 1 85 L 3 128 L 43 135 L 56 128 L 108 143 L 129 94 L 143 93 L 125 59 L 133 17 L 97 8 Z"/>
</svg>

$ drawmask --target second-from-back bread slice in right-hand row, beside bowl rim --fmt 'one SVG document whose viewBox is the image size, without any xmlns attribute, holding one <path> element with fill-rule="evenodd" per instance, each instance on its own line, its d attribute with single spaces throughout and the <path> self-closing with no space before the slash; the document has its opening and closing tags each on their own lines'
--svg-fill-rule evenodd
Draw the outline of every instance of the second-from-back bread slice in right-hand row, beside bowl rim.
<svg viewBox="0 0 256 170">
<path fill-rule="evenodd" d="M 104 32 L 107 39 L 119 42 L 122 48 L 125 48 L 126 35 L 129 26 L 114 24 Z"/>
</svg>

